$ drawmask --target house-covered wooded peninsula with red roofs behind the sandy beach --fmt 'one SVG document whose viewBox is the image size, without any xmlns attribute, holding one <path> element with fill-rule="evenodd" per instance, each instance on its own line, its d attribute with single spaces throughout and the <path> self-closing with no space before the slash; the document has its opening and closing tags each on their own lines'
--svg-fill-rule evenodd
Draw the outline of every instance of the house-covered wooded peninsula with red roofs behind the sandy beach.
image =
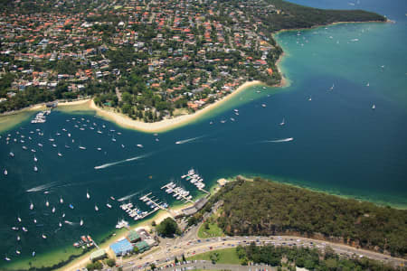
<svg viewBox="0 0 407 271">
<path fill-rule="evenodd" d="M 194 113 L 247 81 L 279 84 L 280 30 L 386 21 L 280 0 L 0 5 L 0 112 L 91 97 L 144 123 Z"/>
</svg>

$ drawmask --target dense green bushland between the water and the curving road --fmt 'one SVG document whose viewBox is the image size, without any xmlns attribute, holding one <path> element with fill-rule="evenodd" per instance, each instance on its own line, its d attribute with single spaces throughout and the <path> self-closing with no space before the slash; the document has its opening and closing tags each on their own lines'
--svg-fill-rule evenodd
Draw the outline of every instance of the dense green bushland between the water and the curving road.
<svg viewBox="0 0 407 271">
<path fill-rule="evenodd" d="M 223 200 L 218 226 L 227 235 L 299 233 L 393 256 L 407 251 L 407 210 L 381 207 L 256 178 L 237 179 L 208 204 Z"/>
</svg>

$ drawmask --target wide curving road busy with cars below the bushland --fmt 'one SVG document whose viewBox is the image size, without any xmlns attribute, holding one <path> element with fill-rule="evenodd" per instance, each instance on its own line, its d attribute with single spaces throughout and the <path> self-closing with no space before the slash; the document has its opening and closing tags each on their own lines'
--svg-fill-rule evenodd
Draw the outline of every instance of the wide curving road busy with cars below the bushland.
<svg viewBox="0 0 407 271">
<path fill-rule="evenodd" d="M 224 238 L 197 238 L 198 226 L 188 229 L 180 238 L 160 238 L 160 245 L 156 251 L 147 253 L 146 256 L 135 256 L 124 259 L 121 263 L 123 270 L 137 270 L 155 263 L 156 266 L 174 263 L 174 257 L 178 259 L 191 257 L 207 251 L 233 248 L 238 245 L 247 246 L 254 242 L 258 246 L 274 245 L 286 247 L 318 248 L 324 250 L 327 246 L 342 257 L 369 257 L 383 261 L 393 266 L 403 266 L 407 262 L 402 258 L 390 257 L 374 251 L 353 248 L 342 244 L 331 243 L 310 238 L 298 238 L 295 236 L 270 236 L 270 237 L 224 237 Z M 269 268 L 270 269 L 270 268 Z M 247 270 L 247 269 L 245 269 Z M 252 269 L 253 270 L 253 269 Z"/>
</svg>

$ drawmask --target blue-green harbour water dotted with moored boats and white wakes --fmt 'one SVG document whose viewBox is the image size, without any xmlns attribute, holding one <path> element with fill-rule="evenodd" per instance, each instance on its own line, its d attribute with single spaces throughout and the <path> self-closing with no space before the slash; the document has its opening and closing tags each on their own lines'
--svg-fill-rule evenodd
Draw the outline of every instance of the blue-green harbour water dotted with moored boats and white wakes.
<svg viewBox="0 0 407 271">
<path fill-rule="evenodd" d="M 321 3 L 315 5 L 357 7 L 348 5 L 348 1 Z M 71 248 L 83 234 L 100 240 L 114 229 L 118 219 L 127 218 L 118 209 L 118 202 L 109 201 L 110 196 L 119 199 L 134 195 L 129 201 L 148 210 L 137 200 L 142 193 L 153 192 L 161 200 L 174 203 L 159 189 L 170 181 L 182 183 L 197 196 L 194 187 L 180 178 L 192 167 L 204 177 L 207 187 L 219 177 L 253 174 L 407 206 L 407 58 L 403 46 L 407 27 L 402 14 L 406 4 L 370 1 L 360 7 L 387 14 L 396 23 L 347 23 L 280 33 L 277 38 L 286 51 L 282 70 L 291 81 L 290 87 L 248 89 L 192 125 L 155 136 L 120 128 L 91 112 L 72 115 L 55 111 L 43 125 L 26 121 L 3 132 L 0 169 L 3 172 L 6 168 L 8 175 L 0 175 L 0 256 L 11 257 L 13 262 L 31 257 L 33 250 L 43 255 Z M 373 104 L 375 110 L 371 109 Z M 233 108 L 239 109 L 239 116 L 234 115 Z M 279 126 L 283 118 L 286 124 Z M 209 124 L 211 120 L 213 125 Z M 227 121 L 222 124 L 221 120 Z M 97 128 L 90 130 L 93 123 L 103 134 L 98 134 Z M 81 131 L 75 125 L 85 129 Z M 35 128 L 41 129 L 43 136 L 30 134 Z M 24 140 L 24 144 L 6 145 L 7 134 Z M 111 140 L 113 134 L 116 142 Z M 194 137 L 199 138 L 175 145 L 176 141 Z M 292 141 L 279 142 L 290 137 Z M 80 150 L 79 145 L 87 150 Z M 38 158 L 38 173 L 33 172 L 32 148 Z M 9 156 L 11 151 L 14 158 Z M 59 157 L 58 152 L 63 156 Z M 95 170 L 95 166 L 104 164 L 107 166 Z M 63 204 L 59 203 L 60 197 Z M 46 207 L 46 201 L 50 207 Z M 29 210 L 30 202 L 34 210 Z M 108 202 L 113 205 L 111 210 L 106 207 Z M 74 210 L 69 209 L 69 203 Z M 84 221 L 82 227 L 80 220 Z M 58 227 L 60 221 L 62 229 Z M 29 231 L 15 232 L 11 229 L 14 226 Z M 21 241 L 16 240 L 17 234 Z M 47 238 L 41 238 L 42 234 Z M 21 250 L 21 256 L 15 254 L 16 249 Z M 0 262 L 2 269 L 7 265 Z"/>
</svg>

